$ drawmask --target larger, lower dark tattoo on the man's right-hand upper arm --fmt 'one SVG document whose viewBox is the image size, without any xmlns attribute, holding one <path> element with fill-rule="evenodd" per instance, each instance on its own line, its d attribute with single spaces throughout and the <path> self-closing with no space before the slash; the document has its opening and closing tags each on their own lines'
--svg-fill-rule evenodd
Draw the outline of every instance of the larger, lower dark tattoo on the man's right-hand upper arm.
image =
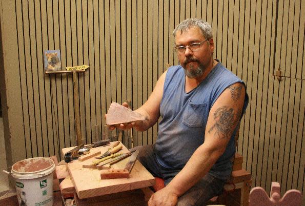
<svg viewBox="0 0 305 206">
<path fill-rule="evenodd" d="M 223 106 L 214 113 L 215 123 L 208 131 L 214 131 L 214 137 L 230 138 L 233 133 L 233 126 L 239 121 L 241 111 L 234 112 L 233 108 Z"/>
</svg>

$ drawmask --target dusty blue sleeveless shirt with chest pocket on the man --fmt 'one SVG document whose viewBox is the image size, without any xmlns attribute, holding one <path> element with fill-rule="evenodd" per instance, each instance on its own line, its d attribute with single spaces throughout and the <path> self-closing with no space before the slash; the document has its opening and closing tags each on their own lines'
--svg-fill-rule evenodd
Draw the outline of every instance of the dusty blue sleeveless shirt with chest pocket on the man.
<svg viewBox="0 0 305 206">
<path fill-rule="evenodd" d="M 207 120 L 214 102 L 226 88 L 237 82 L 244 84 L 219 62 L 195 89 L 186 93 L 184 68 L 178 65 L 168 69 L 155 143 L 156 158 L 162 167 L 181 170 L 185 166 L 194 151 L 205 141 Z M 246 94 L 243 113 L 247 105 Z M 230 158 L 235 154 L 235 134 L 236 129 L 225 152 L 209 171 L 219 179 L 228 179 L 231 175 Z"/>
</svg>

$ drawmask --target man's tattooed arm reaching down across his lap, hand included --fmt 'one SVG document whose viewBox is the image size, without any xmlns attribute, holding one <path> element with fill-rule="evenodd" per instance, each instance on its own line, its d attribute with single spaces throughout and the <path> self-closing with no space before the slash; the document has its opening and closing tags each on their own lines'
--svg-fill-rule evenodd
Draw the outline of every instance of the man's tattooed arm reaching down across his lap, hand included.
<svg viewBox="0 0 305 206">
<path fill-rule="evenodd" d="M 226 150 L 239 122 L 245 94 L 245 87 L 241 83 L 223 91 L 210 110 L 204 143 L 195 150 L 186 166 L 167 187 L 151 197 L 149 205 L 175 205 L 179 196 L 208 173 Z M 162 204 L 164 201 L 169 201 L 169 204 Z"/>
</svg>

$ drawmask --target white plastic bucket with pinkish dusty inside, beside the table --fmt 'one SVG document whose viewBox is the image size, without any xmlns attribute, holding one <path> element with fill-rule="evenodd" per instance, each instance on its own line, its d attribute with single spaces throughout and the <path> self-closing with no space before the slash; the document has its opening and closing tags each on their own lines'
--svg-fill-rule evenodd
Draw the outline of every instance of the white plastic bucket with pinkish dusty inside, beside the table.
<svg viewBox="0 0 305 206">
<path fill-rule="evenodd" d="M 46 157 L 24 159 L 13 164 L 19 205 L 53 205 L 54 161 Z"/>
</svg>

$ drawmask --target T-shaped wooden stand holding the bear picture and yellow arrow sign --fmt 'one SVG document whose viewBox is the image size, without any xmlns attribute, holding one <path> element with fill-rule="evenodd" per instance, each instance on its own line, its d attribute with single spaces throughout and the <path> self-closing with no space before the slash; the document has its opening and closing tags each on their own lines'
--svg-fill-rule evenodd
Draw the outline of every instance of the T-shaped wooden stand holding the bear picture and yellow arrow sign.
<svg viewBox="0 0 305 206">
<path fill-rule="evenodd" d="M 88 68 L 86 68 L 88 69 Z M 78 79 L 77 74 L 79 72 L 85 72 L 85 70 L 70 70 L 70 71 L 45 71 L 46 74 L 67 74 L 73 73 L 73 97 L 74 97 L 74 115 L 75 115 L 75 129 L 76 129 L 76 145 L 82 145 L 82 132 L 80 131 L 80 117 L 79 117 L 79 93 L 78 93 Z"/>
</svg>

